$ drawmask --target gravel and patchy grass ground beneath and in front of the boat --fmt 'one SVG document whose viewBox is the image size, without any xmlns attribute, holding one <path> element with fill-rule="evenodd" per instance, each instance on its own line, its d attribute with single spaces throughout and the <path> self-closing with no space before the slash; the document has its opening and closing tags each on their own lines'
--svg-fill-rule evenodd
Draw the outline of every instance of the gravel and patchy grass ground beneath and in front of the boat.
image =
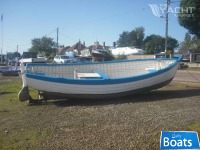
<svg viewBox="0 0 200 150">
<path fill-rule="evenodd" d="M 17 79 L 17 80 L 16 80 Z M 160 133 L 200 133 L 200 85 L 172 82 L 106 100 L 19 102 L 21 81 L 0 80 L 0 149 L 159 149 Z M 37 92 L 31 90 L 33 97 Z"/>
</svg>

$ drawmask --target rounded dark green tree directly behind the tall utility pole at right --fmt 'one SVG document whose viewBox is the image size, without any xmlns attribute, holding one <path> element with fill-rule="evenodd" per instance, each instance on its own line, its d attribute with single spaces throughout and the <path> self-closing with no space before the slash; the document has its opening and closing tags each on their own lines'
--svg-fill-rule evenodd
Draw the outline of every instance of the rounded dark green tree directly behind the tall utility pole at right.
<svg viewBox="0 0 200 150">
<path fill-rule="evenodd" d="M 177 47 L 178 41 L 172 37 L 168 37 L 167 49 L 173 53 L 174 49 Z M 146 54 L 156 54 L 164 51 L 165 38 L 155 34 L 147 36 L 144 40 L 144 49 Z"/>
</svg>

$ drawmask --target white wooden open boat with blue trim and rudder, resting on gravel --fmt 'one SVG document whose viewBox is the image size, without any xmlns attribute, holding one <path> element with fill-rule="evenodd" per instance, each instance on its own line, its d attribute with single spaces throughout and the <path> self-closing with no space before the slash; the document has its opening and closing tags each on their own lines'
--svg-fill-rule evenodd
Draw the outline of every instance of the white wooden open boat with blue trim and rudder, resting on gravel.
<svg viewBox="0 0 200 150">
<path fill-rule="evenodd" d="M 20 101 L 29 88 L 42 99 L 114 98 L 147 92 L 170 83 L 181 58 L 137 59 L 78 64 L 21 63 Z"/>
</svg>

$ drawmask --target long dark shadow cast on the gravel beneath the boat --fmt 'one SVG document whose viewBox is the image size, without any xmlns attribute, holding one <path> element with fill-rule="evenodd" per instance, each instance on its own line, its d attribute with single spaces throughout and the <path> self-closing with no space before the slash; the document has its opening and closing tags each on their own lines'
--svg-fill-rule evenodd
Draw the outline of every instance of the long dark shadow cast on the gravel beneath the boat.
<svg viewBox="0 0 200 150">
<path fill-rule="evenodd" d="M 200 89 L 184 89 L 184 90 L 167 90 L 167 91 L 152 91 L 143 94 L 135 94 L 121 98 L 110 99 L 67 99 L 49 101 L 59 107 L 69 106 L 99 106 L 109 104 L 123 104 L 123 103 L 138 103 L 138 102 L 151 102 L 170 99 L 189 98 L 193 96 L 200 96 Z M 48 103 L 48 102 L 47 102 Z"/>
</svg>

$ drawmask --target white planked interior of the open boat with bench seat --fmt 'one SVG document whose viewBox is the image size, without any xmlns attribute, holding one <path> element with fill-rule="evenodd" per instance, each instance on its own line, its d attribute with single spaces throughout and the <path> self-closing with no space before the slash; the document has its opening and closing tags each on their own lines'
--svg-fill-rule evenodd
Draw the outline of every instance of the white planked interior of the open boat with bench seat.
<svg viewBox="0 0 200 150">
<path fill-rule="evenodd" d="M 26 67 L 28 73 L 70 79 L 113 79 L 152 73 L 172 65 L 176 59 L 113 61 L 85 64 L 36 64 Z"/>
</svg>

